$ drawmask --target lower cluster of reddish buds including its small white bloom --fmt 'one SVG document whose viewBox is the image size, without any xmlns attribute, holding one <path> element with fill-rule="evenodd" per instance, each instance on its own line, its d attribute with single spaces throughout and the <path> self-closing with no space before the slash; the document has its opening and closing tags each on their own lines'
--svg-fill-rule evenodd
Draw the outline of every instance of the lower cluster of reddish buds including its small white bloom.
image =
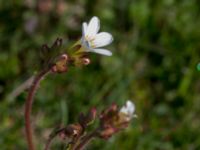
<svg viewBox="0 0 200 150">
<path fill-rule="evenodd" d="M 99 115 L 95 108 L 91 108 L 87 114 L 79 115 L 77 123 L 61 128 L 57 133 L 61 139 L 67 140 L 69 150 L 78 150 L 88 144 L 92 138 L 108 139 L 120 130 L 127 128 L 131 119 L 136 116 L 134 111 L 135 106 L 130 100 L 121 108 L 112 104 Z M 95 121 L 99 122 L 99 125 L 89 131 L 91 130 L 89 126 Z"/>
</svg>

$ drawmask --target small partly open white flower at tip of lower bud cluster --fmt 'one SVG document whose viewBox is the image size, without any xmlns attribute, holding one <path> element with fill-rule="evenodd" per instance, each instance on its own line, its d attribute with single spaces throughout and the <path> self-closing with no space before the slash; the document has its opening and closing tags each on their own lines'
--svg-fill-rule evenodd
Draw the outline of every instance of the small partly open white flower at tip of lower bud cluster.
<svg viewBox="0 0 200 150">
<path fill-rule="evenodd" d="M 123 115 L 126 116 L 126 120 L 129 121 L 131 120 L 134 116 L 134 112 L 135 112 L 135 105 L 133 102 L 131 102 L 130 100 L 127 100 L 126 101 L 126 105 L 123 106 L 121 109 L 120 109 L 120 113 L 122 113 Z"/>
</svg>

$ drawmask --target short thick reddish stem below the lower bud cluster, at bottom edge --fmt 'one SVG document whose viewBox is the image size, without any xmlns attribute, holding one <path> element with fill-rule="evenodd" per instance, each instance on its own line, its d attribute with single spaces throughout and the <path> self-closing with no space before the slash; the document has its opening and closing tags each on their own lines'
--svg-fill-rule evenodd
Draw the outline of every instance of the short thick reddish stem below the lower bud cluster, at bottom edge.
<svg viewBox="0 0 200 150">
<path fill-rule="evenodd" d="M 84 147 L 96 136 L 96 131 L 86 135 L 83 137 L 83 140 L 80 142 L 78 146 L 74 150 L 83 150 Z"/>
</svg>

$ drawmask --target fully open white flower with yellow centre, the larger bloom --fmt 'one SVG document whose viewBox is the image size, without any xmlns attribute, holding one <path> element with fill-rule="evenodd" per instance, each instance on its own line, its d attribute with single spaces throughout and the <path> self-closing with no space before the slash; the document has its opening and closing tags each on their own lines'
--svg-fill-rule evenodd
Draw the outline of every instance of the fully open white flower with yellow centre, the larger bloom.
<svg viewBox="0 0 200 150">
<path fill-rule="evenodd" d="M 88 24 L 84 22 L 82 25 L 81 45 L 86 52 L 111 56 L 112 52 L 100 47 L 109 45 L 113 41 L 113 37 L 107 32 L 98 33 L 99 29 L 100 21 L 97 17 L 92 17 Z"/>
</svg>

